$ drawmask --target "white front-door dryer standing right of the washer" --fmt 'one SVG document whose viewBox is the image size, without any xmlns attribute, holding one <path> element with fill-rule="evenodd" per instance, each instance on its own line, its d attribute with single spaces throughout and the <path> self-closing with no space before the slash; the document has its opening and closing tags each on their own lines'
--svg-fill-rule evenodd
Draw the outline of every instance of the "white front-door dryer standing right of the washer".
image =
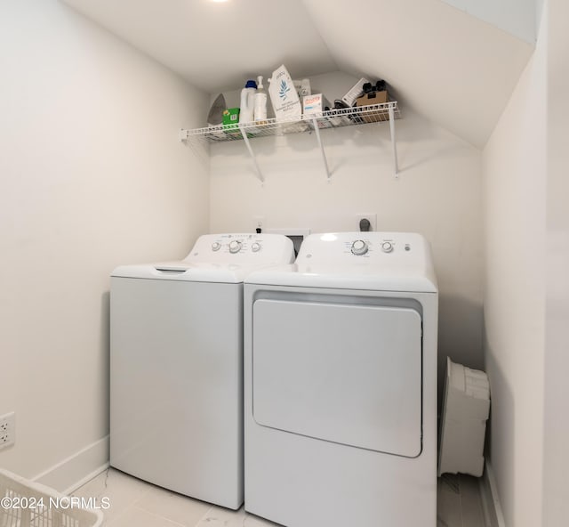
<svg viewBox="0 0 569 527">
<path fill-rule="evenodd" d="M 437 524 L 437 280 L 419 234 L 304 239 L 244 285 L 245 509 Z"/>
</svg>

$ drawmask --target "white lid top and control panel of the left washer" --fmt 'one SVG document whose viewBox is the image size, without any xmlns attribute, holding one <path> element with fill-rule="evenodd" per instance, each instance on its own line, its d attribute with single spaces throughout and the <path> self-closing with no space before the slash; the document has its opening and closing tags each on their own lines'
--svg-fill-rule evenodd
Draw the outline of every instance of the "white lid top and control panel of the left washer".
<svg viewBox="0 0 569 527">
<path fill-rule="evenodd" d="M 281 234 L 204 234 L 182 261 L 122 265 L 112 276 L 242 283 L 254 270 L 293 261 L 293 242 Z"/>
</svg>

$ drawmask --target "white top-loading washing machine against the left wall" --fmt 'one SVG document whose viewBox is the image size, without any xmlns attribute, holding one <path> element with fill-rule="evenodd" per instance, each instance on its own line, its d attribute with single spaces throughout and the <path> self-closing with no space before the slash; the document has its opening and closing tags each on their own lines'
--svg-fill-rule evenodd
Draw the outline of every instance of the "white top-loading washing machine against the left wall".
<svg viewBox="0 0 569 527">
<path fill-rule="evenodd" d="M 293 261 L 276 234 L 212 234 L 182 262 L 116 268 L 110 464 L 222 507 L 243 503 L 243 280 Z"/>
</svg>

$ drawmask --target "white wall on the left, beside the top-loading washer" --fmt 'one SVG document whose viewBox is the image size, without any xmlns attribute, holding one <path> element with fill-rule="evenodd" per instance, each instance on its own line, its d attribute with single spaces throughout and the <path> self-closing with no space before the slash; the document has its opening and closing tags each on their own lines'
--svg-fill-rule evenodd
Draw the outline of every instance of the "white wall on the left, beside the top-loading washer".
<svg viewBox="0 0 569 527">
<path fill-rule="evenodd" d="M 56 0 L 0 10 L 0 466 L 70 458 L 42 478 L 62 489 L 108 460 L 109 273 L 207 231 L 208 168 L 178 141 L 207 97 Z"/>
</svg>

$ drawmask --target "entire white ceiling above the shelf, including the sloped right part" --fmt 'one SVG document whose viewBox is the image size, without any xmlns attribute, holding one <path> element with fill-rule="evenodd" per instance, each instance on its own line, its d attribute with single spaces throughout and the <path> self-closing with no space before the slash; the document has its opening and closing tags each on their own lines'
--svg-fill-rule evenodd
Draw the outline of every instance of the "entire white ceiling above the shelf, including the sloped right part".
<svg viewBox="0 0 569 527">
<path fill-rule="evenodd" d="M 482 148 L 533 46 L 441 0 L 64 0 L 207 93 L 284 63 L 295 78 L 383 78 Z M 512 13 L 516 16 L 516 13 Z"/>
</svg>

